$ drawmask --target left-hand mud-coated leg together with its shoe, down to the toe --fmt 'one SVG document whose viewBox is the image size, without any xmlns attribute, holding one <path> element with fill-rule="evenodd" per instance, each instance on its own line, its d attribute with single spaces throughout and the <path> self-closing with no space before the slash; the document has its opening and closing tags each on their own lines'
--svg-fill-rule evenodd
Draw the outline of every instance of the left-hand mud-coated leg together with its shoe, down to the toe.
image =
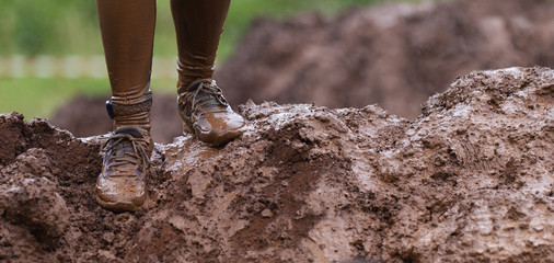
<svg viewBox="0 0 554 263">
<path fill-rule="evenodd" d="M 154 0 L 97 0 L 115 133 L 104 146 L 94 196 L 104 208 L 132 211 L 147 199 L 150 138 L 150 71 L 155 24 Z"/>
</svg>

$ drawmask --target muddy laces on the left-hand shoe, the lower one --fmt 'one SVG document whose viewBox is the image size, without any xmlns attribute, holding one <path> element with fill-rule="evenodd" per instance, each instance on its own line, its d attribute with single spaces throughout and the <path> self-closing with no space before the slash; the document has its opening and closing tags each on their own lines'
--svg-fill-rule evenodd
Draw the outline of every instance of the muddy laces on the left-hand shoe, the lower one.
<svg viewBox="0 0 554 263">
<path fill-rule="evenodd" d="M 112 170 L 109 176 L 137 176 L 135 171 L 139 168 L 141 162 L 145 162 L 148 155 L 146 152 L 146 141 L 140 138 L 135 138 L 128 134 L 116 134 L 114 135 L 104 145 L 104 152 L 108 152 L 113 150 L 117 145 L 123 142 L 124 140 L 129 140 L 132 146 L 134 152 L 124 152 L 123 157 L 119 157 L 113 153 L 107 160 L 108 167 L 107 170 Z M 113 144 L 109 147 L 106 147 L 109 141 Z M 122 149 L 123 150 L 123 149 Z M 138 156 L 140 155 L 142 159 Z"/>
</svg>

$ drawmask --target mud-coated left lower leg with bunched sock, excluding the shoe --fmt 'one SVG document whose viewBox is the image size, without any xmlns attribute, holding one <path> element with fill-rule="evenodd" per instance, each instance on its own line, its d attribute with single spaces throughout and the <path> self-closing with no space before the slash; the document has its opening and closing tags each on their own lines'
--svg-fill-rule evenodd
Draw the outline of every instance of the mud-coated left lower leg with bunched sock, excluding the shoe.
<svg viewBox="0 0 554 263">
<path fill-rule="evenodd" d="M 149 132 L 155 0 L 97 0 L 96 7 L 116 128 Z"/>
</svg>

